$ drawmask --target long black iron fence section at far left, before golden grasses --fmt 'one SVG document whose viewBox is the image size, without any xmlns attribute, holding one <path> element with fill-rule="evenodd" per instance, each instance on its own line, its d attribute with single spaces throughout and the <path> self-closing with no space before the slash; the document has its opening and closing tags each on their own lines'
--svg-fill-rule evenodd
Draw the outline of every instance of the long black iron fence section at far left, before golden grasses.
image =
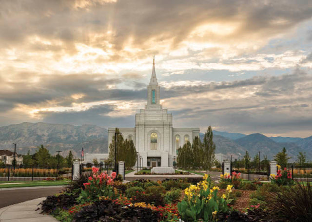
<svg viewBox="0 0 312 222">
<path fill-rule="evenodd" d="M 67 165 L 4 165 L 0 167 L 0 181 L 72 180 L 73 166 Z"/>
</svg>

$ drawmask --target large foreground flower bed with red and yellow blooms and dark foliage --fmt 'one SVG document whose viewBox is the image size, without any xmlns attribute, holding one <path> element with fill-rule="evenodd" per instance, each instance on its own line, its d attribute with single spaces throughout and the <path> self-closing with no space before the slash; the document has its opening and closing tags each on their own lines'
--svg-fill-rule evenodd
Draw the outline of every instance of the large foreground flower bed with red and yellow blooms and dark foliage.
<svg viewBox="0 0 312 222">
<path fill-rule="evenodd" d="M 282 207 L 277 211 L 268 203 L 276 198 L 283 206 L 281 202 L 285 200 L 280 193 L 284 188 L 245 182 L 239 173 L 223 176 L 219 184 L 225 186 L 223 189 L 207 174 L 202 179 L 140 179 L 127 184 L 116 177 L 116 173 L 108 175 L 92 168 L 92 176 L 80 178 L 65 192 L 47 197 L 41 209 L 61 222 L 287 221 L 280 214 L 284 212 Z M 293 192 L 300 190 L 305 190 L 304 194 L 296 196 L 309 204 L 311 191 L 294 188 Z"/>
</svg>

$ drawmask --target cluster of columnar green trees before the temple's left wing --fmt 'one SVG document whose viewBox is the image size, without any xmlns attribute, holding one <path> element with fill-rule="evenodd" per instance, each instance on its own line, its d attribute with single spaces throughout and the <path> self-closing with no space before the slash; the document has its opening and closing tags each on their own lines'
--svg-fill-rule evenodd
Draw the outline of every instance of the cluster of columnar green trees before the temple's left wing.
<svg viewBox="0 0 312 222">
<path fill-rule="evenodd" d="M 119 133 L 119 129 L 116 128 L 116 133 Z M 124 140 L 121 134 L 117 134 L 117 162 L 125 161 L 125 167 L 127 169 L 132 168 L 137 162 L 137 151 L 132 140 Z M 109 144 L 109 161 L 113 163 L 115 161 L 115 135 L 112 142 Z"/>
</svg>

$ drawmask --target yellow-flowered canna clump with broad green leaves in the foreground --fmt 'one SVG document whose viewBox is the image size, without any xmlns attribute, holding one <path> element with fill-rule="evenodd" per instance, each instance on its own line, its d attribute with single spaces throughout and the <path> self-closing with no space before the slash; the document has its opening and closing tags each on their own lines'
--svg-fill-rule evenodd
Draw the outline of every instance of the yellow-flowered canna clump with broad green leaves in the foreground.
<svg viewBox="0 0 312 222">
<path fill-rule="evenodd" d="M 205 222 L 215 221 L 218 212 L 227 212 L 228 205 L 232 200 L 229 200 L 229 193 L 232 191 L 232 186 L 229 185 L 226 189 L 226 194 L 222 197 L 217 196 L 218 187 L 211 188 L 211 180 L 207 174 L 204 180 L 198 183 L 197 186 L 191 185 L 184 190 L 185 198 L 178 203 L 178 210 L 181 219 L 186 222 L 193 222 L 199 219 Z"/>
</svg>

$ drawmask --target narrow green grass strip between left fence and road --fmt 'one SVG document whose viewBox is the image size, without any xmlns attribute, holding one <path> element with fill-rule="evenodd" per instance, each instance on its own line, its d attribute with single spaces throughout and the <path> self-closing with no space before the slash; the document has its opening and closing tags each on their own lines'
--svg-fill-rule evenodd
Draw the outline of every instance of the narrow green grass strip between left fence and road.
<svg viewBox="0 0 312 222">
<path fill-rule="evenodd" d="M 0 181 L 0 188 L 23 188 L 67 185 L 69 181 Z M 16 184 L 15 184 L 16 183 Z"/>
</svg>

